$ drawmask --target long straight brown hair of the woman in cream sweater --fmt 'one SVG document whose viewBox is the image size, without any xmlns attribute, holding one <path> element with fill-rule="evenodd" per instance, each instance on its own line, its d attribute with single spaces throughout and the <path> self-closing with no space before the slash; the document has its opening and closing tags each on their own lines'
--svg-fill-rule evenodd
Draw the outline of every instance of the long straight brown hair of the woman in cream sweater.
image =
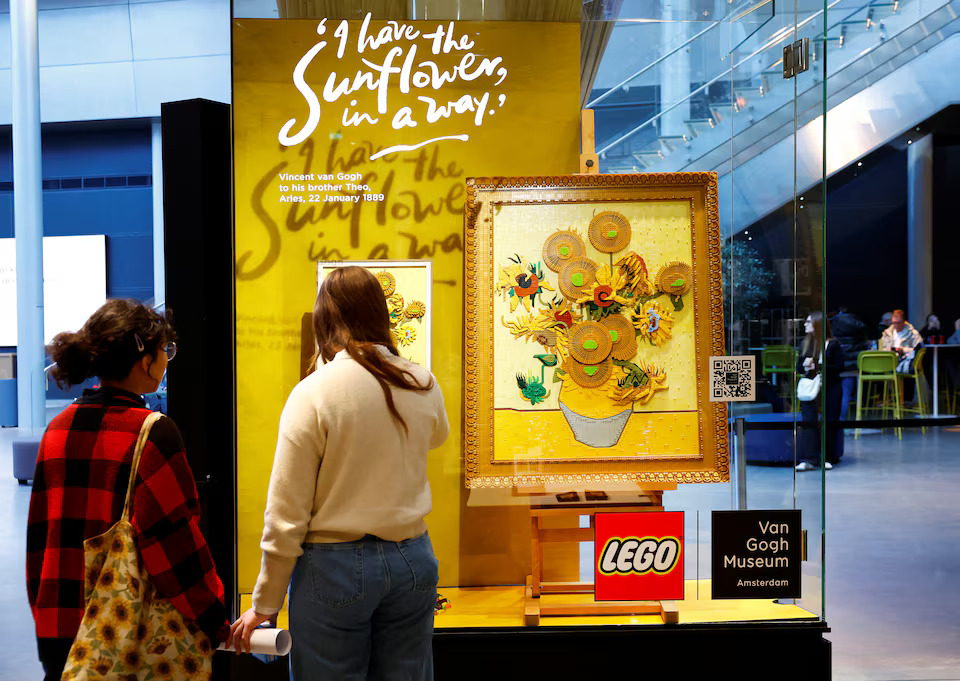
<svg viewBox="0 0 960 681">
<path fill-rule="evenodd" d="M 360 366 L 369 371 L 387 400 L 387 408 L 407 431 L 407 423 L 393 402 L 390 386 L 401 390 L 427 391 L 431 379 L 420 385 L 406 369 L 392 364 L 375 345 L 385 345 L 399 355 L 390 336 L 390 313 L 377 278 L 362 267 L 339 267 L 320 286 L 313 306 L 313 333 L 317 339 L 314 366 L 322 359 L 329 362 L 340 350 L 346 350 Z"/>
</svg>

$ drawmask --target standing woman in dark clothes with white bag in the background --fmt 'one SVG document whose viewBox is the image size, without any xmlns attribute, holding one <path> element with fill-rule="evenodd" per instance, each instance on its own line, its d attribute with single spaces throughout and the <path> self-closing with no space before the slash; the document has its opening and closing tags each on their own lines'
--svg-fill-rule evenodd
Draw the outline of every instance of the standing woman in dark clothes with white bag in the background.
<svg viewBox="0 0 960 681">
<path fill-rule="evenodd" d="M 825 397 L 823 421 L 826 424 L 826 448 L 824 468 L 833 468 L 843 456 L 843 429 L 840 428 L 840 408 L 843 387 L 840 372 L 843 371 L 843 347 L 830 334 L 830 320 L 819 310 L 811 312 L 804 321 L 803 342 L 797 373 L 806 378 L 820 374 L 820 393 L 809 401 L 800 402 L 800 428 L 797 433 L 798 471 L 810 471 L 820 467 L 820 430 L 817 422 L 821 400 Z M 824 394 L 825 393 L 825 394 Z"/>
</svg>

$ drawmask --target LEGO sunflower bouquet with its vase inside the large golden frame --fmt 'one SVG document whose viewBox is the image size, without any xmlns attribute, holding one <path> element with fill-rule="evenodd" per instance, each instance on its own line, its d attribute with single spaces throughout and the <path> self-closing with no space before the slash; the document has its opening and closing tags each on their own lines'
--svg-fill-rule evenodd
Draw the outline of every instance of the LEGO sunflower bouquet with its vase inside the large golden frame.
<svg viewBox="0 0 960 681">
<path fill-rule="evenodd" d="M 494 292 L 510 304 L 500 323 L 542 348 L 516 375 L 521 398 L 540 405 L 559 390 L 576 440 L 604 448 L 617 444 L 637 405 L 669 390 L 657 357 L 669 350 L 693 272 L 679 261 L 654 267 L 629 250 L 630 222 L 616 211 L 594 215 L 586 238 L 608 262 L 588 257 L 576 229 L 558 229 L 538 259 L 515 254 L 500 264 Z"/>
</svg>

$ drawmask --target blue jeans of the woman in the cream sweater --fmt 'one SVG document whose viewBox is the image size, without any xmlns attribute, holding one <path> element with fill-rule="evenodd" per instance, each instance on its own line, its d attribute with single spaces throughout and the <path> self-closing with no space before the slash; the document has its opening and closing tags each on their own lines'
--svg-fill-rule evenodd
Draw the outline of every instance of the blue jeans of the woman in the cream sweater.
<svg viewBox="0 0 960 681">
<path fill-rule="evenodd" d="M 290 583 L 294 681 L 432 681 L 430 537 L 303 549 Z"/>
</svg>

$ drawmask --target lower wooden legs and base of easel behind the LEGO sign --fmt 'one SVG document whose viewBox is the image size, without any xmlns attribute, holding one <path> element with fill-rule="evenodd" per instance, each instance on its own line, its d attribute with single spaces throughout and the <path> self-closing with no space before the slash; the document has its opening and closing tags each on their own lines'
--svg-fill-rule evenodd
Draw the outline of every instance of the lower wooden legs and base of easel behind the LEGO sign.
<svg viewBox="0 0 960 681">
<path fill-rule="evenodd" d="M 659 615 L 665 624 L 679 621 L 675 601 L 546 601 L 543 595 L 592 594 L 593 582 L 543 581 L 543 545 L 548 542 L 593 542 L 596 537 L 595 515 L 601 513 L 643 513 L 663 510 L 663 491 L 646 492 L 648 503 L 623 505 L 581 504 L 577 506 L 531 506 L 530 508 L 530 566 L 523 605 L 523 623 L 528 627 L 540 624 L 541 617 L 577 615 Z M 589 527 L 549 529 L 543 527 L 546 517 L 579 518 L 589 516 Z"/>
</svg>

